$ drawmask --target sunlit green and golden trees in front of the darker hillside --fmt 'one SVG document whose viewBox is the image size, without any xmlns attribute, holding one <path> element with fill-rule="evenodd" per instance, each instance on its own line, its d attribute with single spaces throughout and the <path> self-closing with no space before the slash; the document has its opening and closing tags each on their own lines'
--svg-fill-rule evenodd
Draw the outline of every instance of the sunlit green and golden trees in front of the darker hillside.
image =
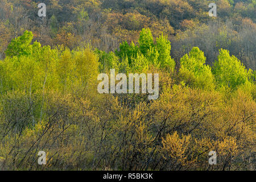
<svg viewBox="0 0 256 182">
<path fill-rule="evenodd" d="M 226 49 L 213 66 L 192 49 L 177 62 L 168 36 L 142 29 L 113 52 L 32 42 L 24 31 L 0 61 L 5 169 L 255 170 L 255 72 Z M 97 76 L 159 73 L 159 98 L 99 94 Z M 45 151 L 47 164 L 38 165 Z M 217 165 L 208 163 L 217 152 Z"/>
</svg>

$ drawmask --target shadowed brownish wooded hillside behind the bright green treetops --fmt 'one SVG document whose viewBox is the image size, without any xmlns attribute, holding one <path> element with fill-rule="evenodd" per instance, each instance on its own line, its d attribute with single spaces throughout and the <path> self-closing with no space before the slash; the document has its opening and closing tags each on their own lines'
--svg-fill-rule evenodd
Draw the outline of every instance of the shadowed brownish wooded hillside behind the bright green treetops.
<svg viewBox="0 0 256 182">
<path fill-rule="evenodd" d="M 179 59 L 199 47 L 213 65 L 218 50 L 228 49 L 247 69 L 256 69 L 255 0 L 213 0 L 217 17 L 209 17 L 207 0 L 2 0 L 0 2 L 0 59 L 7 45 L 25 30 L 43 46 L 63 44 L 70 49 L 88 42 L 102 51 L 114 51 L 127 41 L 138 44 L 142 28 L 154 38 L 161 32 Z M 38 4 L 46 3 L 46 17 Z"/>
</svg>

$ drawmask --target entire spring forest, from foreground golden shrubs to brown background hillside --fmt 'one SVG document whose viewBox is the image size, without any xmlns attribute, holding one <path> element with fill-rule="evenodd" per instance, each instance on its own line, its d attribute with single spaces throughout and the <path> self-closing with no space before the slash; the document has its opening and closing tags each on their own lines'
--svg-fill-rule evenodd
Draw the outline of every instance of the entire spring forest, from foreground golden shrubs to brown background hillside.
<svg viewBox="0 0 256 182">
<path fill-rule="evenodd" d="M 255 0 L 1 0 L 0 170 L 255 170 L 255 14 Z M 159 98 L 98 93 L 110 69 L 159 73 Z"/>
</svg>

